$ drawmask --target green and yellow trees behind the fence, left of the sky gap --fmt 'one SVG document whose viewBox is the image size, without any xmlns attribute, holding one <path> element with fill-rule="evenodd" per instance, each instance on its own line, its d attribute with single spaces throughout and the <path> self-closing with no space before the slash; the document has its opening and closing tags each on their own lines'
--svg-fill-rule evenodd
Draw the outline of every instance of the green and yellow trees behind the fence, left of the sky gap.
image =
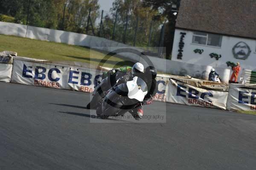
<svg viewBox="0 0 256 170">
<path fill-rule="evenodd" d="M 85 32 L 90 8 L 92 23 L 95 25 L 99 15 L 98 0 L 0 0 L 1 13 L 15 17 L 17 23 L 26 24 L 28 17 L 30 26 L 49 29 L 63 28 L 65 6 L 64 27 L 67 31 Z"/>
</svg>

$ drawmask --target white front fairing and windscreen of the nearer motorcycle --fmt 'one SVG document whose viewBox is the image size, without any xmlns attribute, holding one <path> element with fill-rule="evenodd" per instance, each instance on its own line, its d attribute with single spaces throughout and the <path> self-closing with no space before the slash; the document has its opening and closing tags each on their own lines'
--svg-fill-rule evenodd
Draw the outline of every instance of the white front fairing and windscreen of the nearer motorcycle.
<svg viewBox="0 0 256 170">
<path fill-rule="evenodd" d="M 136 99 L 142 102 L 145 95 L 148 93 L 148 86 L 143 79 L 134 77 L 132 81 L 126 83 L 128 87 L 128 98 Z"/>
</svg>

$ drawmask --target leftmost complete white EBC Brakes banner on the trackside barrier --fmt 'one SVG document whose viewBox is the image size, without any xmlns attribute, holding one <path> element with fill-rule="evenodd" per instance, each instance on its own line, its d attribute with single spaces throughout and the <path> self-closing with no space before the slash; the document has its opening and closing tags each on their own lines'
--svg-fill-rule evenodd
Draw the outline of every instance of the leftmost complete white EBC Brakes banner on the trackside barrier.
<svg viewBox="0 0 256 170">
<path fill-rule="evenodd" d="M 12 82 L 70 89 L 67 84 L 69 70 L 69 67 L 15 60 L 13 62 Z"/>
</svg>

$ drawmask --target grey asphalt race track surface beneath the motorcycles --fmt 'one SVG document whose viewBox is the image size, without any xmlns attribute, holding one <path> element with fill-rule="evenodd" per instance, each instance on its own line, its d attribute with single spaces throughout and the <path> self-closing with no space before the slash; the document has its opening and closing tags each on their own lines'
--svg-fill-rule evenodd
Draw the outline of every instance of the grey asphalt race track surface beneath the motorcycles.
<svg viewBox="0 0 256 170">
<path fill-rule="evenodd" d="M 6 83 L 0 92 L 0 170 L 256 167 L 253 115 L 154 102 L 145 115 L 166 123 L 90 123 L 90 94 Z"/>
</svg>

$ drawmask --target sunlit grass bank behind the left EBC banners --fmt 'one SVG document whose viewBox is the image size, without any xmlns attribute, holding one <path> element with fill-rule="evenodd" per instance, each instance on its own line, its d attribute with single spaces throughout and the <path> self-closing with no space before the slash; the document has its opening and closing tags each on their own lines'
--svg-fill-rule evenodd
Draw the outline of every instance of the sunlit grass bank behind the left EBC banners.
<svg viewBox="0 0 256 170">
<path fill-rule="evenodd" d="M 29 38 L 0 35 L 0 52 L 15 51 L 18 56 L 49 61 L 78 61 L 98 66 L 105 54 L 87 47 L 54 43 Z M 91 56 L 91 57 L 90 57 Z M 121 58 L 112 56 L 104 61 L 104 66 L 113 67 Z"/>
</svg>

